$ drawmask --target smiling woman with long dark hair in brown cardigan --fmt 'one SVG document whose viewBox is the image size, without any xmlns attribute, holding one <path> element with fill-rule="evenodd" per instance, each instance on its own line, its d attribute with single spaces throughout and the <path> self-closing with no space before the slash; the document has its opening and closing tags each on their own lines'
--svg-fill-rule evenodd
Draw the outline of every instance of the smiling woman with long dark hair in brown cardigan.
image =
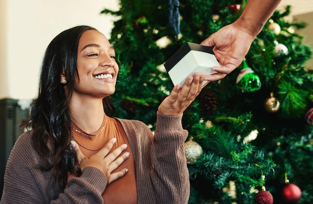
<svg viewBox="0 0 313 204">
<path fill-rule="evenodd" d="M 187 203 L 183 111 L 203 75 L 188 76 L 158 107 L 154 134 L 111 117 L 118 65 L 98 30 L 75 26 L 49 43 L 39 92 L 9 156 L 0 203 Z"/>
</svg>

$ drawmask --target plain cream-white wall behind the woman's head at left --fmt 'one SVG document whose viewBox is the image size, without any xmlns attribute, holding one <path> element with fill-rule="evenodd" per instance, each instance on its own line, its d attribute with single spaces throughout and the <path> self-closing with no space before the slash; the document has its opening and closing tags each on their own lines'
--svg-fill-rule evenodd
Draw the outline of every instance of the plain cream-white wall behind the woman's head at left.
<svg viewBox="0 0 313 204">
<path fill-rule="evenodd" d="M 108 38 L 117 0 L 0 0 L 0 99 L 34 98 L 44 50 L 59 32 L 87 24 Z"/>
</svg>

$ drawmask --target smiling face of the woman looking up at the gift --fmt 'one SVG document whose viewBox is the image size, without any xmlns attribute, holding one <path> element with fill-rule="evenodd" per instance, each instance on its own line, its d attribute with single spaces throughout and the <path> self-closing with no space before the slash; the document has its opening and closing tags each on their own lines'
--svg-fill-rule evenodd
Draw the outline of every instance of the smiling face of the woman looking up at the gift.
<svg viewBox="0 0 313 204">
<path fill-rule="evenodd" d="M 77 70 L 73 96 L 103 98 L 115 91 L 118 65 L 115 51 L 97 30 L 82 33 L 77 50 Z"/>
</svg>

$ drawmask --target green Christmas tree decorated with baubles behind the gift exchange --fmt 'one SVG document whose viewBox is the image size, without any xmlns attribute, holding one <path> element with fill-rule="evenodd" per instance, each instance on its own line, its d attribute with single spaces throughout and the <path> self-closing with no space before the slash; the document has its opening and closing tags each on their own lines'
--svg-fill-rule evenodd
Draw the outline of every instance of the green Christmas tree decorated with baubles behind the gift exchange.
<svg viewBox="0 0 313 204">
<path fill-rule="evenodd" d="M 233 22 L 246 1 L 119 2 L 102 10 L 119 17 L 110 36 L 120 67 L 115 116 L 154 130 L 173 87 L 163 63 Z M 276 10 L 243 63 L 185 110 L 189 203 L 313 203 L 313 74 L 303 67 L 311 50 L 296 33 L 306 22 L 288 15 L 290 6 Z"/>
</svg>

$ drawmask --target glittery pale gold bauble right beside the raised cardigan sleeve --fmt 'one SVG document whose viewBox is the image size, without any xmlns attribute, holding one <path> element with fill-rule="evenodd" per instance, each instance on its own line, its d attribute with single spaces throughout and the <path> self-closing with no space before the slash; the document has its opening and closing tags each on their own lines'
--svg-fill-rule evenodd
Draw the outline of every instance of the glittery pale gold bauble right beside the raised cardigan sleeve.
<svg viewBox="0 0 313 204">
<path fill-rule="evenodd" d="M 202 147 L 195 141 L 192 141 L 192 138 L 184 143 L 184 150 L 188 164 L 194 163 L 202 154 Z"/>
</svg>

